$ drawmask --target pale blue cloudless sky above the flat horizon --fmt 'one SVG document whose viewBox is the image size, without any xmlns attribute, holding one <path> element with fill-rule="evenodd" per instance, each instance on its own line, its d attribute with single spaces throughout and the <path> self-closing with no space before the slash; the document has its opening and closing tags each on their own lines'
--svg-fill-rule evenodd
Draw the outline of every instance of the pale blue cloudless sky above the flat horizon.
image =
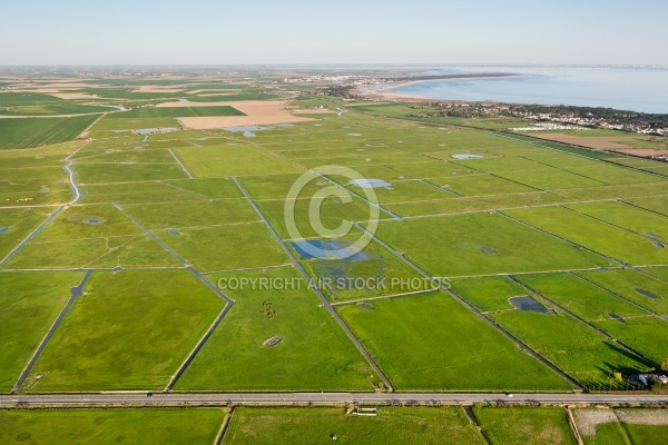
<svg viewBox="0 0 668 445">
<path fill-rule="evenodd" d="M 668 1 L 7 1 L 0 65 L 668 65 Z"/>
</svg>

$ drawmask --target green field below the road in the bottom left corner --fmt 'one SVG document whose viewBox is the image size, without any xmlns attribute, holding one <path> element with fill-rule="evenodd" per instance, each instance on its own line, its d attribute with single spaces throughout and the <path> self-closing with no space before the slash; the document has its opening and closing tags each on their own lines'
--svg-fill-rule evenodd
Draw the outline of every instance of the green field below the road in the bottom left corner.
<svg viewBox="0 0 668 445">
<path fill-rule="evenodd" d="M 225 411 L 0 411 L 3 444 L 212 444 Z"/>
</svg>

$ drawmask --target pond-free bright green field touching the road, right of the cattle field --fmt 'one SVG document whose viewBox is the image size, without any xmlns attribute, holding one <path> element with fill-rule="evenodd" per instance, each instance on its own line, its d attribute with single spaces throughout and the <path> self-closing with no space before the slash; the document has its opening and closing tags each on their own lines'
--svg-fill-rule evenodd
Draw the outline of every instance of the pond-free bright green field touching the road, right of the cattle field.
<svg viewBox="0 0 668 445">
<path fill-rule="evenodd" d="M 357 305 L 336 310 L 397 389 L 570 387 L 449 295 L 432 293 L 372 305 L 373 310 Z"/>
</svg>

